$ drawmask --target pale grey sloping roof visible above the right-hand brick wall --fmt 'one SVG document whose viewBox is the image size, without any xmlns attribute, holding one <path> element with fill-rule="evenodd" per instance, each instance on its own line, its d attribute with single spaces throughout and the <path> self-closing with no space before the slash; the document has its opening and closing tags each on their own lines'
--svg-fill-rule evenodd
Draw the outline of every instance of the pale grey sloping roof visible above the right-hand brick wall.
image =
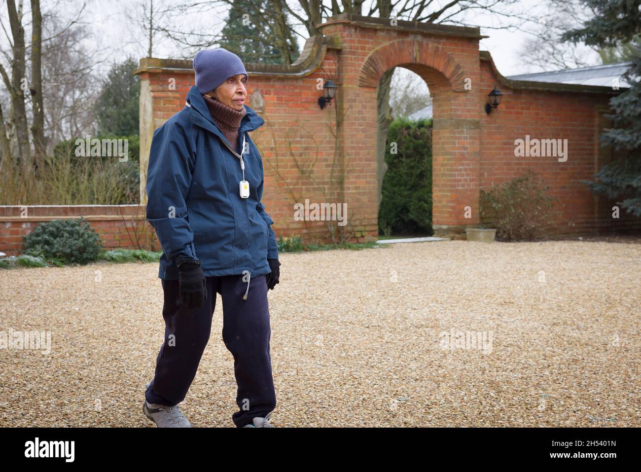
<svg viewBox="0 0 641 472">
<path fill-rule="evenodd" d="M 536 74 L 521 74 L 508 76 L 511 80 L 527 80 L 532 82 L 575 83 L 579 85 L 600 85 L 612 87 L 615 79 L 619 79 L 619 87 L 629 87 L 629 83 L 621 78 L 631 62 L 594 65 L 578 69 L 563 69 L 562 71 L 538 72 Z"/>
</svg>

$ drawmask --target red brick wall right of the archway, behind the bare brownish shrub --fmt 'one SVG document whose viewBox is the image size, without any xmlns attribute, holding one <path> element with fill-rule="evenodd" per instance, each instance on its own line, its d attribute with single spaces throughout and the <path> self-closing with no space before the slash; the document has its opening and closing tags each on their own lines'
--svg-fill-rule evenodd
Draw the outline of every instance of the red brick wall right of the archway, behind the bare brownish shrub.
<svg viewBox="0 0 641 472">
<path fill-rule="evenodd" d="M 609 162 L 611 151 L 599 144 L 609 111 L 609 94 L 569 93 L 553 90 L 519 90 L 501 84 L 490 62 L 481 61 L 481 90 L 496 85 L 503 92 L 501 105 L 481 120 L 481 166 L 483 189 L 512 180 L 528 169 L 542 176 L 550 193 L 558 198 L 556 219 L 560 233 L 641 228 L 640 219 L 620 212 L 613 219 L 615 201 L 595 196 L 581 180 L 593 180 L 599 168 Z M 479 96 L 479 108 L 486 97 Z M 515 139 L 526 135 L 536 139 L 567 139 L 567 160 L 556 157 L 516 157 Z M 604 158 L 603 153 L 609 158 Z M 600 156 L 601 155 L 601 156 Z"/>
</svg>

